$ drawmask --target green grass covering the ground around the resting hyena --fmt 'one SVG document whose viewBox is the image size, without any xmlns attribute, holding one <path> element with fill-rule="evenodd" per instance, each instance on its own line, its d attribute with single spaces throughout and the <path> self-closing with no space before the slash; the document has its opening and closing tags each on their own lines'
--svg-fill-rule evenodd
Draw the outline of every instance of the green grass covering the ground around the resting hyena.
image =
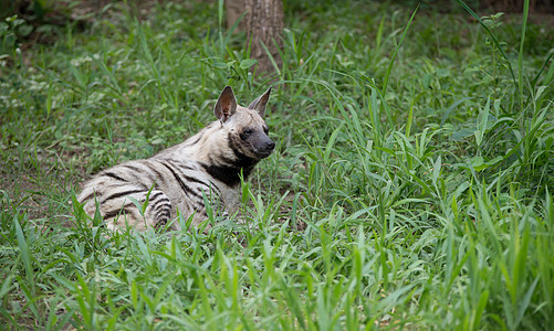
<svg viewBox="0 0 554 331">
<path fill-rule="evenodd" d="M 276 77 L 249 72 L 205 1 L 140 23 L 114 4 L 1 57 L 0 324 L 554 324 L 554 29 L 461 4 L 285 2 Z M 211 121 L 224 85 L 247 104 L 270 81 L 278 147 L 243 186 L 257 229 L 106 236 L 71 203 Z"/>
</svg>

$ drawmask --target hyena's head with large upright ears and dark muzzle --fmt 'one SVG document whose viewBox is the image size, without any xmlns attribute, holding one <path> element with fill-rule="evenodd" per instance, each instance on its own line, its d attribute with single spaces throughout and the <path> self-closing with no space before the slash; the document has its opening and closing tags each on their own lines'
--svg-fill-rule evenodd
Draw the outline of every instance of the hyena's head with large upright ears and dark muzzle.
<svg viewBox="0 0 554 331">
<path fill-rule="evenodd" d="M 271 87 L 250 106 L 242 107 L 237 105 L 230 86 L 221 92 L 213 114 L 227 132 L 229 147 L 237 157 L 261 160 L 269 157 L 275 148 L 275 142 L 268 137 L 269 127 L 262 118 L 270 94 Z"/>
</svg>

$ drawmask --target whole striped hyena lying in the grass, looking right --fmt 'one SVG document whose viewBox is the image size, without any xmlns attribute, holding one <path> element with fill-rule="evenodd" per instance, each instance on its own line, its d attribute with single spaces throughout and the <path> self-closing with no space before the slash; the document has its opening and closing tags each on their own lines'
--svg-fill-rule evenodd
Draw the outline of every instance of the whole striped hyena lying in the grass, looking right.
<svg viewBox="0 0 554 331">
<path fill-rule="evenodd" d="M 177 216 L 192 216 L 196 226 L 207 220 L 205 199 L 227 212 L 239 203 L 240 177 L 273 151 L 262 119 L 270 90 L 249 107 L 237 105 L 232 89 L 221 93 L 215 115 L 219 119 L 186 141 L 150 159 L 122 163 L 84 184 L 77 201 L 94 216 L 96 207 L 108 227 L 163 228 Z M 140 204 L 144 213 L 129 196 Z M 180 229 L 174 222 L 171 229 Z"/>
</svg>

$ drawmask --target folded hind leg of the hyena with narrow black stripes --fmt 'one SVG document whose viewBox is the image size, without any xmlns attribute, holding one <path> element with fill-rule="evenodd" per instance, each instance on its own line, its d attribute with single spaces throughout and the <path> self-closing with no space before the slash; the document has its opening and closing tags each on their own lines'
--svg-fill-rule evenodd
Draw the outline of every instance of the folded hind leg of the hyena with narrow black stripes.
<svg viewBox="0 0 554 331">
<path fill-rule="evenodd" d="M 138 207 L 135 202 L 138 202 Z M 146 202 L 147 205 L 143 213 L 143 205 Z M 114 231 L 123 231 L 127 225 L 136 231 L 151 227 L 161 229 L 171 221 L 171 202 L 163 191 L 158 190 L 137 191 L 122 196 L 113 196 L 101 203 L 100 211 L 104 221 L 107 221 L 106 226 Z M 179 228 L 178 224 L 171 225 L 171 229 Z"/>
</svg>

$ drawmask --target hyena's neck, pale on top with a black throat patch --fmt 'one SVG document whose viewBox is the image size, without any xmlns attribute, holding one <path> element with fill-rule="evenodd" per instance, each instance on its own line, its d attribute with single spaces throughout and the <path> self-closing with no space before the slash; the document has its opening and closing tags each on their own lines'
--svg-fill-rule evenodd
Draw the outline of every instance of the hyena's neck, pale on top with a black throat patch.
<svg viewBox="0 0 554 331">
<path fill-rule="evenodd" d="M 247 180 L 258 160 L 241 153 L 231 138 L 216 121 L 167 150 L 167 153 L 161 152 L 160 157 L 181 162 L 194 161 L 213 179 L 234 188 L 240 184 L 241 177 Z"/>
</svg>

